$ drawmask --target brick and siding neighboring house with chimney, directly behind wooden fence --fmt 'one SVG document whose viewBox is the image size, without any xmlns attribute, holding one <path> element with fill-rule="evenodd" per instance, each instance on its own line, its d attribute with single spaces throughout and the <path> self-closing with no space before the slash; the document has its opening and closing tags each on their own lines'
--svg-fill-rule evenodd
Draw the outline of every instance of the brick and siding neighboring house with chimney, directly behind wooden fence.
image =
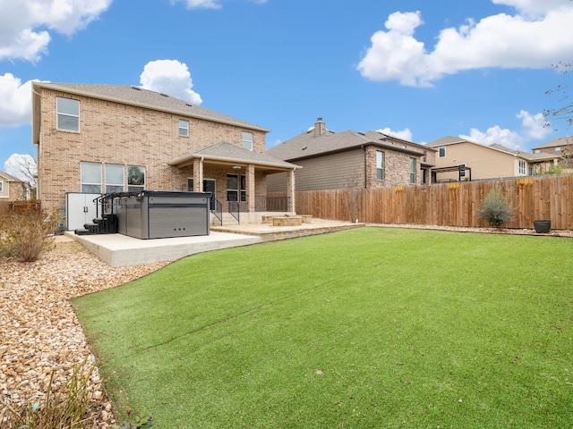
<svg viewBox="0 0 573 429">
<path fill-rule="evenodd" d="M 321 118 L 311 130 L 267 153 L 303 167 L 296 190 L 384 188 L 428 183 L 435 151 L 378 131 L 334 132 Z M 268 178 L 269 192 L 286 191 L 286 174 Z"/>
</svg>

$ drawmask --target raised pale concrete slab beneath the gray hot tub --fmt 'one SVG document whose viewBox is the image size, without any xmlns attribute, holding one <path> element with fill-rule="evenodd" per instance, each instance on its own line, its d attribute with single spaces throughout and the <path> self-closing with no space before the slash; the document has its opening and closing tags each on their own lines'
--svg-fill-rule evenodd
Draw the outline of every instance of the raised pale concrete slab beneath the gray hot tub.
<svg viewBox="0 0 573 429">
<path fill-rule="evenodd" d="M 78 241 L 110 266 L 171 261 L 195 253 L 247 246 L 262 241 L 259 236 L 218 231 L 196 237 L 152 240 L 134 239 L 123 234 L 76 235 L 73 231 L 66 231 L 65 236 Z"/>
</svg>

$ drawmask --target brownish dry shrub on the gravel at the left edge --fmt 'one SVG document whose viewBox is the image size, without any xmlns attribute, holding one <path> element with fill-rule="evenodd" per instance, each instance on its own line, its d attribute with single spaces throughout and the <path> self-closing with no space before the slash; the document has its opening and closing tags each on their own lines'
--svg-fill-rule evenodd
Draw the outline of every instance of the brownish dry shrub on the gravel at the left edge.
<svg viewBox="0 0 573 429">
<path fill-rule="evenodd" d="M 0 257 L 21 262 L 33 262 L 52 248 L 49 237 L 57 230 L 55 213 L 46 215 L 42 210 L 10 212 L 0 220 Z"/>
</svg>

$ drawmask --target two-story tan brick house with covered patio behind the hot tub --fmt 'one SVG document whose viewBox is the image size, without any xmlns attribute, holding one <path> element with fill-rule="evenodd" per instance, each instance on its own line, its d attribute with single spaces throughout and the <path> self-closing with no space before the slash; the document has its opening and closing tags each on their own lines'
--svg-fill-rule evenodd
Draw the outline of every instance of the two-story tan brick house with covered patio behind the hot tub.
<svg viewBox="0 0 573 429">
<path fill-rule="evenodd" d="M 294 197 L 296 165 L 266 155 L 269 130 L 258 125 L 139 87 L 33 82 L 32 91 L 46 209 L 61 209 L 66 192 L 150 189 L 210 191 L 223 210 L 239 199 L 255 213 L 274 172 L 286 172 Z M 295 211 L 294 198 L 285 208 Z"/>
</svg>

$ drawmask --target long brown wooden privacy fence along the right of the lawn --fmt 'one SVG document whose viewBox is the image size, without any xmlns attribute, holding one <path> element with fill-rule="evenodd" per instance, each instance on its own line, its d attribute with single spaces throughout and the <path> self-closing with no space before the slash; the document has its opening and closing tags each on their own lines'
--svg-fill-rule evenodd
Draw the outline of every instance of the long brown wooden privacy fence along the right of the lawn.
<svg viewBox="0 0 573 429">
<path fill-rule="evenodd" d="M 296 192 L 296 212 L 321 219 L 363 223 L 487 226 L 477 212 L 490 190 L 500 186 L 513 219 L 503 226 L 533 228 L 551 219 L 552 229 L 573 230 L 573 175 L 527 176 L 383 189 Z"/>
</svg>

